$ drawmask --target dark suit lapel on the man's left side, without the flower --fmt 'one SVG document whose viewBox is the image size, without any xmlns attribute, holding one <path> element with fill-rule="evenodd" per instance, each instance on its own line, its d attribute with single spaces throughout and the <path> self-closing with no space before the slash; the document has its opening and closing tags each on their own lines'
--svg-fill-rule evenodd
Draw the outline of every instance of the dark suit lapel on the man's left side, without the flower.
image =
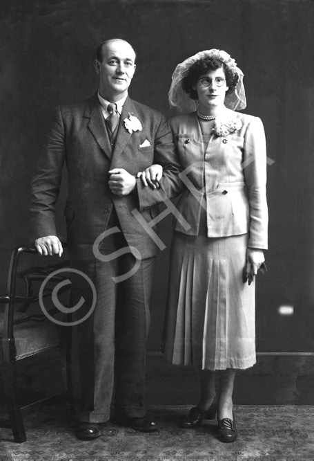
<svg viewBox="0 0 314 461">
<path fill-rule="evenodd" d="M 84 112 L 84 117 L 90 119 L 88 122 L 88 129 L 92 132 L 101 150 L 111 159 L 112 149 L 97 95 L 90 100 L 90 104 L 86 107 Z"/>
</svg>

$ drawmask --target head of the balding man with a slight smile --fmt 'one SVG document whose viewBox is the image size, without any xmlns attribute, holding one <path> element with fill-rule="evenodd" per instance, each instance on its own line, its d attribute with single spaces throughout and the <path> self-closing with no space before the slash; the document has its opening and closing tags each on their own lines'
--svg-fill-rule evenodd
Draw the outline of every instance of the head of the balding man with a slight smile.
<svg viewBox="0 0 314 461">
<path fill-rule="evenodd" d="M 110 102 L 126 96 L 135 73 L 135 52 L 124 41 L 109 42 L 102 49 L 102 61 L 95 60 L 99 93 Z"/>
</svg>

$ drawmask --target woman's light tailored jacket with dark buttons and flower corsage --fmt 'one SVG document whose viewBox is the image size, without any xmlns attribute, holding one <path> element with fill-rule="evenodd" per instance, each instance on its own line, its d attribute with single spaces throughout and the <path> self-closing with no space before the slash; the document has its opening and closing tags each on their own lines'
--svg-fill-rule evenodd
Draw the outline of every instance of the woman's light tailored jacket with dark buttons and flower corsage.
<svg viewBox="0 0 314 461">
<path fill-rule="evenodd" d="M 204 152 L 196 112 L 170 119 L 177 153 L 184 170 L 185 190 L 177 210 L 190 228 L 175 219 L 174 228 L 199 234 L 201 213 L 208 237 L 249 232 L 248 246 L 267 248 L 266 141 L 262 121 L 236 113 L 242 127 L 227 136 L 210 136 Z M 226 121 L 235 112 L 226 109 Z"/>
</svg>

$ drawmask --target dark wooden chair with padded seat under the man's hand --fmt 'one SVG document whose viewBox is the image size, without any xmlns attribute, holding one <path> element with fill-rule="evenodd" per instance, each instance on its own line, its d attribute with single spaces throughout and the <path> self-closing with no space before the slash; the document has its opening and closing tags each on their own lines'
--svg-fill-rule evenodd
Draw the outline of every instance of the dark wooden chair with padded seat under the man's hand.
<svg viewBox="0 0 314 461">
<path fill-rule="evenodd" d="M 25 253 L 35 254 L 35 248 L 18 246 L 12 252 L 10 268 L 8 273 L 8 295 L 0 297 L 0 303 L 5 305 L 4 311 L 0 313 L 0 366 L 3 374 L 3 390 L 8 408 L 8 419 L 0 419 L 1 428 L 11 428 L 15 442 L 25 442 L 26 433 L 23 424 L 23 417 L 17 385 L 17 362 L 26 357 L 46 352 L 53 348 L 59 348 L 61 358 L 61 378 L 63 383 L 63 394 L 66 400 L 66 408 L 70 415 L 75 414 L 75 405 L 72 392 L 71 375 L 71 328 L 60 325 L 53 296 L 56 296 L 54 288 L 59 284 L 59 295 L 64 294 L 70 284 L 63 276 L 64 271 L 54 273 L 58 269 L 68 266 L 68 261 L 46 266 L 31 266 L 21 270 L 22 259 L 25 263 L 27 258 L 21 255 Z M 34 258 L 35 256 L 32 256 Z M 42 263 L 43 260 L 41 260 Z M 34 262 L 34 261 L 33 261 Z M 45 286 L 43 287 L 43 281 Z M 17 295 L 17 282 L 23 284 L 24 296 Z M 37 286 L 40 287 L 37 288 Z M 46 304 L 52 305 L 46 313 L 38 309 L 38 300 L 45 299 Z M 46 302 L 47 300 L 47 302 Z M 48 302 L 49 301 L 49 302 Z M 39 313 L 32 312 L 36 308 Z M 32 308 L 30 308 L 32 306 Z M 52 320 L 48 319 L 48 316 Z M 66 320 L 70 320 L 70 314 L 66 314 Z M 49 397 L 37 399 L 46 400 Z M 28 405 L 27 405 L 28 406 Z"/>
</svg>

